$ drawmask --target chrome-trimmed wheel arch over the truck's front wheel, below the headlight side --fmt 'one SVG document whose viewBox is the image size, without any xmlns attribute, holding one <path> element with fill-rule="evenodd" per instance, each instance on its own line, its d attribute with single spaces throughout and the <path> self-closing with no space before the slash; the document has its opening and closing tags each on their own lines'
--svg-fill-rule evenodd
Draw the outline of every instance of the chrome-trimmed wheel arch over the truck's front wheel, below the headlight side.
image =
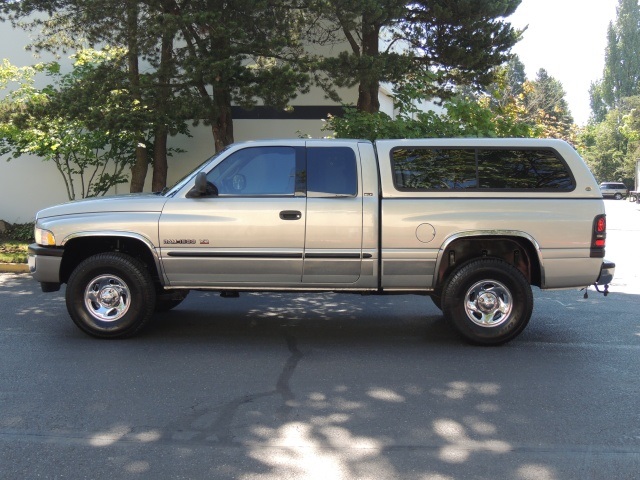
<svg viewBox="0 0 640 480">
<path fill-rule="evenodd" d="M 163 270 L 156 249 L 148 238 L 130 232 L 76 233 L 62 242 L 64 256 L 60 280 L 66 283 L 71 272 L 85 259 L 106 252 L 121 252 L 143 262 L 153 280 L 164 284 Z"/>
</svg>

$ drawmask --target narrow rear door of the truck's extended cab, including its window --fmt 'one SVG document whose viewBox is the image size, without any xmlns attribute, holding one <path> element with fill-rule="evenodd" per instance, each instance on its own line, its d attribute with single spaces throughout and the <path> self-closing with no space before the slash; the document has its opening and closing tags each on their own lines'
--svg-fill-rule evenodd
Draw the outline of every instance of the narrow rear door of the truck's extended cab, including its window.
<svg viewBox="0 0 640 480">
<path fill-rule="evenodd" d="M 354 144 L 355 145 L 355 144 Z M 308 141 L 303 284 L 354 283 L 362 269 L 358 150 Z"/>
</svg>

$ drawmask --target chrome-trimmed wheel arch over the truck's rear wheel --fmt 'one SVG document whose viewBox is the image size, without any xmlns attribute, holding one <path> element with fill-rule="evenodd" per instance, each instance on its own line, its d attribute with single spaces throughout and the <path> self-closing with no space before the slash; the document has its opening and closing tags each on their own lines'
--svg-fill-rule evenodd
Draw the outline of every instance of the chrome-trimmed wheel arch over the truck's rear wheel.
<svg viewBox="0 0 640 480">
<path fill-rule="evenodd" d="M 481 257 L 500 258 L 520 270 L 530 285 L 544 284 L 544 263 L 538 242 L 525 232 L 490 230 L 460 232 L 443 243 L 436 261 L 436 289 L 442 287 L 455 269 Z"/>
</svg>

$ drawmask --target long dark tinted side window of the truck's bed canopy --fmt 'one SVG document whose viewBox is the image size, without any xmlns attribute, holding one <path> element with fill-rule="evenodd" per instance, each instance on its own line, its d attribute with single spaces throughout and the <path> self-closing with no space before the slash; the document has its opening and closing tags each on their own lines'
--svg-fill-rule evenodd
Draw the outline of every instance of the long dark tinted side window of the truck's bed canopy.
<svg viewBox="0 0 640 480">
<path fill-rule="evenodd" d="M 398 190 L 573 190 L 550 149 L 399 148 L 392 151 Z"/>
</svg>

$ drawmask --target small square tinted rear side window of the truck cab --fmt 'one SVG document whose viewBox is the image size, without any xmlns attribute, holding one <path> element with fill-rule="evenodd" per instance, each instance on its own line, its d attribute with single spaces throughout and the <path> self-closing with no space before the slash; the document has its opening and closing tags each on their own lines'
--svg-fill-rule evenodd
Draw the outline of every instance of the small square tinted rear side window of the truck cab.
<svg viewBox="0 0 640 480">
<path fill-rule="evenodd" d="M 308 148 L 307 192 L 316 197 L 357 195 L 355 152 L 348 147 Z"/>
</svg>

